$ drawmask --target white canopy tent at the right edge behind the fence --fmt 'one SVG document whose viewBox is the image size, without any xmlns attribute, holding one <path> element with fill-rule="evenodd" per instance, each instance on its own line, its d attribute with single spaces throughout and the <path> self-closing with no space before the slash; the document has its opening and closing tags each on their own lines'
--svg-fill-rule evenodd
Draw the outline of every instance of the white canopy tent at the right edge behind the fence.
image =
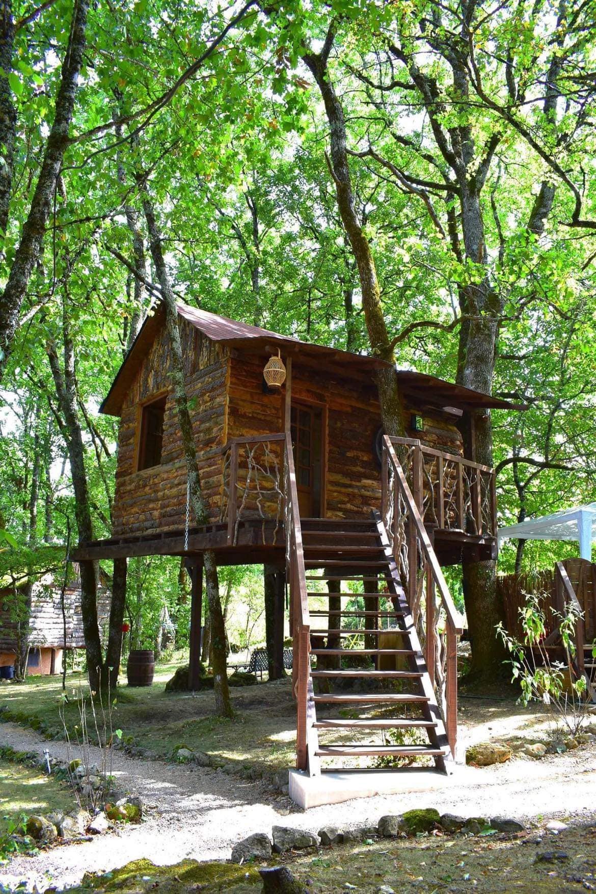
<svg viewBox="0 0 596 894">
<path fill-rule="evenodd" d="M 503 540 L 577 540 L 582 559 L 592 561 L 592 542 L 596 541 L 596 502 L 526 519 L 518 525 L 499 527 L 499 545 Z"/>
</svg>

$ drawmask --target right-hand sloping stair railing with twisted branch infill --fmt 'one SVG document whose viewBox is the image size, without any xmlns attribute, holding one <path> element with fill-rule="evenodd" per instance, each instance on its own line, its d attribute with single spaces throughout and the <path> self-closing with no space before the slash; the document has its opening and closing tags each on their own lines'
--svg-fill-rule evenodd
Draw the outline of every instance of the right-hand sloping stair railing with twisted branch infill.
<svg viewBox="0 0 596 894">
<path fill-rule="evenodd" d="M 396 442 L 399 448 L 405 448 L 405 461 L 411 457 L 414 492 L 398 459 Z M 422 451 L 419 446 L 419 442 L 403 443 L 401 439 L 384 436 L 382 520 L 416 631 L 424 648 L 426 667 L 441 706 L 449 748 L 455 756 L 457 637 L 463 632 L 464 620 L 451 599 L 449 587 L 424 526 L 422 503 L 419 502 L 422 490 L 418 488 L 416 491 L 416 482 L 420 484 L 422 480 Z"/>
</svg>

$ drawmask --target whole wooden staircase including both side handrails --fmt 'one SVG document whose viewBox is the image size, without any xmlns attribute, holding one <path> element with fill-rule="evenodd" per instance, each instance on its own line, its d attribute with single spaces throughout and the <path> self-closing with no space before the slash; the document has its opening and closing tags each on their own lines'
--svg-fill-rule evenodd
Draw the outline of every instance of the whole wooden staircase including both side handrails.
<svg viewBox="0 0 596 894">
<path fill-rule="evenodd" d="M 454 760 L 462 621 L 393 445 L 384 442 L 382 513 L 300 519 L 286 438 L 297 766 L 310 775 L 330 762 L 362 767 L 367 758 L 387 766 L 423 760 L 449 772 Z M 342 589 L 346 581 L 363 592 Z M 330 600 L 324 608 L 322 596 Z"/>
</svg>

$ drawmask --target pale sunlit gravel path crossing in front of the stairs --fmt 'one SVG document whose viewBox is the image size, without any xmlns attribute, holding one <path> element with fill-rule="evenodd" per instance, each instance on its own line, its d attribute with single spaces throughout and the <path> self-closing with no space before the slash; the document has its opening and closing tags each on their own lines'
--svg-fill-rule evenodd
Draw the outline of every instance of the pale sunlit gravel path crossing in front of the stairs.
<svg viewBox="0 0 596 894">
<path fill-rule="evenodd" d="M 0 745 L 41 755 L 48 743 L 30 730 L 0 723 Z M 67 758 L 63 742 L 50 753 Z M 91 760 L 97 761 L 96 749 Z M 94 753 L 95 752 L 95 753 Z M 143 797 L 147 818 L 138 826 L 110 832 L 93 841 L 64 845 L 38 856 L 19 856 L 4 867 L 0 882 L 26 880 L 29 890 L 50 884 L 76 884 L 86 872 L 106 872 L 140 857 L 157 864 L 185 857 L 228 858 L 231 846 L 274 824 L 318 831 L 325 824 L 343 828 L 377 822 L 382 814 L 434 806 L 464 816 L 508 815 L 541 822 L 542 818 L 593 820 L 596 816 L 596 746 L 545 758 L 515 760 L 481 769 L 457 768 L 454 776 L 437 777 L 437 788 L 424 793 L 373 797 L 341 805 L 315 807 L 306 813 L 287 797 L 274 797 L 257 781 L 222 771 L 131 758 L 116 752 L 113 775 L 119 788 Z"/>
</svg>

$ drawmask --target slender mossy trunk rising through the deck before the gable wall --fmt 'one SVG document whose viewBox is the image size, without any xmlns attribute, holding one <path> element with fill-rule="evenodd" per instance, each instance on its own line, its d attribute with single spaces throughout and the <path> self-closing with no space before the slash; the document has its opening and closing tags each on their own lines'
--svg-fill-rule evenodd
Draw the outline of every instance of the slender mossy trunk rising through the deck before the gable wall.
<svg viewBox="0 0 596 894">
<path fill-rule="evenodd" d="M 189 403 L 184 378 L 184 363 L 180 345 L 178 309 L 172 291 L 170 277 L 165 266 L 161 237 L 155 221 L 154 208 L 149 200 L 147 188 L 144 183 L 141 188 L 143 190 L 143 210 L 147 220 L 151 257 L 153 257 L 155 273 L 157 274 L 162 289 L 162 299 L 165 308 L 165 326 L 172 349 L 172 389 L 178 416 L 178 424 L 180 426 L 182 447 L 186 458 L 190 504 L 197 524 L 205 525 L 209 521 L 209 513 L 203 499 L 198 476 L 197 449 L 192 434 L 192 422 L 190 420 Z M 209 603 L 209 611 L 211 614 L 215 711 L 222 717 L 231 717 L 232 708 L 230 690 L 228 687 L 225 622 L 223 620 L 222 603 L 219 594 L 217 562 L 215 560 L 215 553 L 212 550 L 207 550 L 203 554 L 203 567 L 205 569 L 207 601 Z"/>
</svg>

